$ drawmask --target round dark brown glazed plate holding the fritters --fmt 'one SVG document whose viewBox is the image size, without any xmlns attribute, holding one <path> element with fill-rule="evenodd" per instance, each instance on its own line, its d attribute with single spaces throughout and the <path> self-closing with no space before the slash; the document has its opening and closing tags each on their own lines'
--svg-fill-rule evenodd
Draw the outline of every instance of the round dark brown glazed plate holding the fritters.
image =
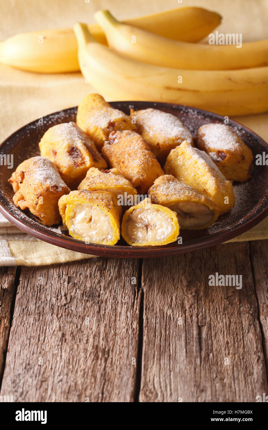
<svg viewBox="0 0 268 430">
<path fill-rule="evenodd" d="M 176 115 L 193 135 L 196 134 L 197 129 L 202 124 L 224 122 L 224 117 L 220 115 L 178 104 L 115 101 L 111 105 L 126 114 L 129 114 L 129 107 L 133 107 L 134 110 L 153 107 L 169 112 Z M 77 108 L 71 107 L 43 117 L 43 122 L 41 120 L 33 121 L 9 136 L 0 146 L 0 154 L 13 154 L 12 169 L 9 169 L 8 166 L 0 166 L 0 212 L 25 233 L 53 245 L 86 254 L 144 258 L 183 254 L 225 242 L 249 230 L 268 215 L 268 169 L 265 165 L 257 166 L 255 162 L 256 154 L 268 154 L 268 144 L 250 129 L 229 120 L 229 126 L 241 136 L 253 152 L 252 178 L 243 184 L 234 183 L 235 207 L 227 214 L 220 216 L 212 226 L 204 230 L 181 230 L 182 244 L 170 243 L 165 246 L 132 247 L 127 246 L 122 238 L 117 245 L 113 246 L 86 244 L 83 241 L 73 239 L 68 235 L 68 232 L 58 232 L 57 226 L 52 228 L 39 224 L 14 205 L 12 201 L 13 192 L 8 179 L 23 160 L 40 155 L 38 143 L 49 127 L 69 121 L 75 122 L 76 112 Z"/>
</svg>

